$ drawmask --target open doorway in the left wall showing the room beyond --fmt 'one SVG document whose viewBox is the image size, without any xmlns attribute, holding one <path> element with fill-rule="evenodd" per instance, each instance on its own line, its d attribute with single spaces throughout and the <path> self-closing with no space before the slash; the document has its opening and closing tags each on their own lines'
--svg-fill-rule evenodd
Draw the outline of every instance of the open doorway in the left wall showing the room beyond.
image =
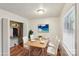
<svg viewBox="0 0 79 59">
<path fill-rule="evenodd" d="M 10 48 L 23 44 L 23 23 L 10 21 Z"/>
</svg>

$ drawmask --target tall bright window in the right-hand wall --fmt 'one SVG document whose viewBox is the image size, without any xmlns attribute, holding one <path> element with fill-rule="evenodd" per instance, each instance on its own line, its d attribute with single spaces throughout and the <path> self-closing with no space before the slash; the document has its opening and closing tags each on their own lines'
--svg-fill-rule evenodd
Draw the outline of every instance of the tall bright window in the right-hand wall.
<svg viewBox="0 0 79 59">
<path fill-rule="evenodd" d="M 75 7 L 67 12 L 64 17 L 63 43 L 67 52 L 75 55 Z"/>
</svg>

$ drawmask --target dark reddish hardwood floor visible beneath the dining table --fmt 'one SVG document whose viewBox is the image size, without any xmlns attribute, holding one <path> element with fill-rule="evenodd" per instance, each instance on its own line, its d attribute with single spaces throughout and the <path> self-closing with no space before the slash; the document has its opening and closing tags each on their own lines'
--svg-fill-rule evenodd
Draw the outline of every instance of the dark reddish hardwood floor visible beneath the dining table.
<svg viewBox="0 0 79 59">
<path fill-rule="evenodd" d="M 47 47 L 46 48 L 37 48 L 30 47 L 30 56 L 47 56 Z"/>
</svg>

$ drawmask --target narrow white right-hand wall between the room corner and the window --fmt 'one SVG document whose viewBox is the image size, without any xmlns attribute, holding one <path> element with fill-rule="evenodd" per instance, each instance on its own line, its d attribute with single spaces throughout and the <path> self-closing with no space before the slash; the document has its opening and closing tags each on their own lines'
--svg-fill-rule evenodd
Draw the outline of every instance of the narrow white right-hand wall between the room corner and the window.
<svg viewBox="0 0 79 59">
<path fill-rule="evenodd" d="M 61 32 L 62 32 L 62 34 L 61 34 L 61 37 L 62 37 L 62 41 L 63 41 L 63 32 L 64 32 L 64 16 L 66 15 L 66 13 L 69 11 L 69 9 L 72 7 L 72 5 L 74 5 L 74 4 L 72 4 L 72 3 L 67 3 L 67 4 L 65 4 L 65 6 L 64 6 L 64 8 L 63 8 L 63 10 L 62 10 L 62 12 L 61 12 L 61 16 L 60 16 L 60 20 L 61 20 Z M 62 49 L 62 55 L 68 55 L 69 54 L 69 52 L 68 52 L 68 50 L 67 50 L 67 47 L 64 45 L 64 43 L 62 42 L 62 47 L 61 48 L 63 48 Z"/>
</svg>

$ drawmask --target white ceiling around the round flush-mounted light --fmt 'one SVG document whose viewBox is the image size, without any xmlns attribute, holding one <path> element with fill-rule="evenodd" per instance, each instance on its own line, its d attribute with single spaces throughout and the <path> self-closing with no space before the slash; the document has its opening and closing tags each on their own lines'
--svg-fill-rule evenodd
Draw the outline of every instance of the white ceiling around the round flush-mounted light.
<svg viewBox="0 0 79 59">
<path fill-rule="evenodd" d="M 38 15 L 35 10 L 38 8 L 46 9 L 46 13 Z M 64 3 L 1 3 L 0 9 L 7 10 L 19 16 L 35 19 L 45 17 L 58 17 L 64 7 Z"/>
</svg>

